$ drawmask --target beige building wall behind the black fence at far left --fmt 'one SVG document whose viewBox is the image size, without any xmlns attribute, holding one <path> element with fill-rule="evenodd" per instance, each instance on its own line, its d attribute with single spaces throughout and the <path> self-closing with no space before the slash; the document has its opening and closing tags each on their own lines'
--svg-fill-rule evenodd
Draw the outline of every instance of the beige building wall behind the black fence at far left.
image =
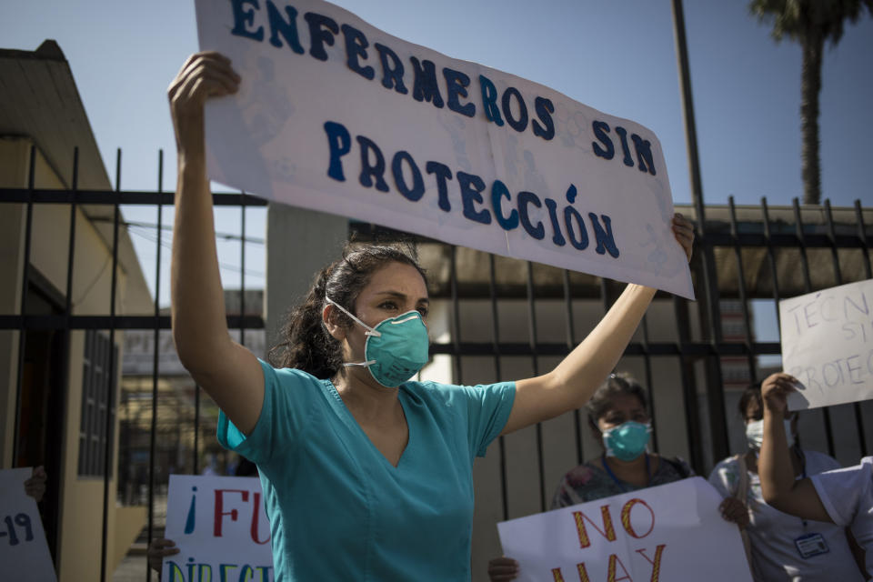
<svg viewBox="0 0 873 582">
<path fill-rule="evenodd" d="M 26 138 L 0 139 L 0 186 L 25 187 L 31 141 Z M 35 187 L 65 188 L 45 157 L 36 150 Z M 111 225 L 110 225 L 111 226 Z M 31 268 L 55 287 L 62 295 L 66 290 L 70 235 L 69 205 L 35 205 L 33 212 L 30 264 Z M 111 233 L 111 228 L 109 229 Z M 2 313 L 19 313 L 21 306 L 22 263 L 24 260 L 25 206 L 4 205 L 0 213 L 0 276 L 5 283 L 0 287 Z M 78 206 L 75 214 L 74 277 L 72 285 L 73 314 L 106 315 L 109 312 L 112 280 L 111 238 L 106 240 L 105 228 L 95 226 L 87 215 L 87 208 Z M 128 241 L 129 244 L 129 241 Z M 131 273 L 133 277 L 131 278 Z M 148 290 L 138 265 L 117 266 L 116 314 L 144 312 L 149 308 Z M 131 281 L 136 288 L 130 292 Z M 115 406 L 121 379 L 124 332 L 115 332 L 118 347 Z M 58 579 L 60 582 L 79 582 L 100 578 L 100 540 L 103 534 L 102 477 L 78 475 L 79 431 L 83 387 L 82 361 L 85 354 L 85 331 L 70 332 L 68 359 L 68 386 L 65 394 L 62 440 L 61 475 L 49 476 L 49 487 L 58 487 L 60 493 L 60 534 L 58 545 Z M 15 386 L 17 382 L 18 333 L 0 332 L 0 402 L 3 403 L 4 430 L 2 438 L 3 467 L 13 464 L 13 433 L 15 426 Z M 112 478 L 107 503 L 106 571 L 111 573 L 125 556 L 130 543 L 145 524 L 145 508 L 121 508 L 115 503 L 117 474 L 118 423 L 113 426 Z"/>
</svg>

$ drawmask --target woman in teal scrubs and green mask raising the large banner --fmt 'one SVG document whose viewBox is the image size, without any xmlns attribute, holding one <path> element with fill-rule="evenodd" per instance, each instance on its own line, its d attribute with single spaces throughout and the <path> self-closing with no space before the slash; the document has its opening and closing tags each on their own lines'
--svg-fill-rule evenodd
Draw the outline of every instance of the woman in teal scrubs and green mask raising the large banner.
<svg viewBox="0 0 873 582">
<path fill-rule="evenodd" d="M 316 275 L 270 361 L 260 360 L 227 330 L 206 179 L 204 105 L 241 82 L 225 56 L 206 52 L 168 90 L 178 154 L 173 336 L 221 409 L 219 442 L 256 463 L 275 580 L 468 580 L 475 458 L 501 434 L 583 406 L 655 289 L 628 285 L 546 374 L 452 386 L 416 378 L 429 357 L 429 297 L 414 256 L 349 246 Z M 691 224 L 677 215 L 672 229 L 690 258 Z"/>
</svg>

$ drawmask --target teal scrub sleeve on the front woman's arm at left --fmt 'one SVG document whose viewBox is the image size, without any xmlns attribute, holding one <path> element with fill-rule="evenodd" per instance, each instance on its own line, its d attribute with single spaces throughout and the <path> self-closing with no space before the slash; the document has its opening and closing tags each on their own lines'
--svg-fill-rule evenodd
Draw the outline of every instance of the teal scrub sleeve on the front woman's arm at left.
<svg viewBox="0 0 873 582">
<path fill-rule="evenodd" d="M 317 395 L 314 376 L 285 368 L 277 370 L 258 360 L 264 372 L 264 404 L 255 428 L 246 437 L 222 410 L 218 414 L 218 443 L 236 451 L 256 465 L 265 465 L 274 452 L 293 446 L 305 428 L 306 411 Z"/>
</svg>

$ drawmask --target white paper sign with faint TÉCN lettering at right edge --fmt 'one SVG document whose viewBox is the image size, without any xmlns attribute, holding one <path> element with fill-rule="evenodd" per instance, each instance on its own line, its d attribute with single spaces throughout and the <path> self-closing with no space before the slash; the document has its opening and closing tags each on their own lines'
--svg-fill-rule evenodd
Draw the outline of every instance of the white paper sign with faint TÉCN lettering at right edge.
<svg viewBox="0 0 873 582">
<path fill-rule="evenodd" d="M 779 301 L 782 369 L 801 410 L 873 398 L 873 279 Z"/>
</svg>

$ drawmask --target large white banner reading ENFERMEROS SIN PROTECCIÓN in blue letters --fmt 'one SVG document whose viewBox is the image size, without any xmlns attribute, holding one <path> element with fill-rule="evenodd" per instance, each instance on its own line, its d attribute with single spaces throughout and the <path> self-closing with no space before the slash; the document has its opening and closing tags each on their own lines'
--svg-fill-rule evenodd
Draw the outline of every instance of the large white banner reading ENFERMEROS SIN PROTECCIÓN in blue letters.
<svg viewBox="0 0 873 582">
<path fill-rule="evenodd" d="M 211 179 L 693 298 L 646 127 L 319 0 L 196 0 L 196 15 L 201 50 L 243 79 L 206 105 Z"/>
</svg>

